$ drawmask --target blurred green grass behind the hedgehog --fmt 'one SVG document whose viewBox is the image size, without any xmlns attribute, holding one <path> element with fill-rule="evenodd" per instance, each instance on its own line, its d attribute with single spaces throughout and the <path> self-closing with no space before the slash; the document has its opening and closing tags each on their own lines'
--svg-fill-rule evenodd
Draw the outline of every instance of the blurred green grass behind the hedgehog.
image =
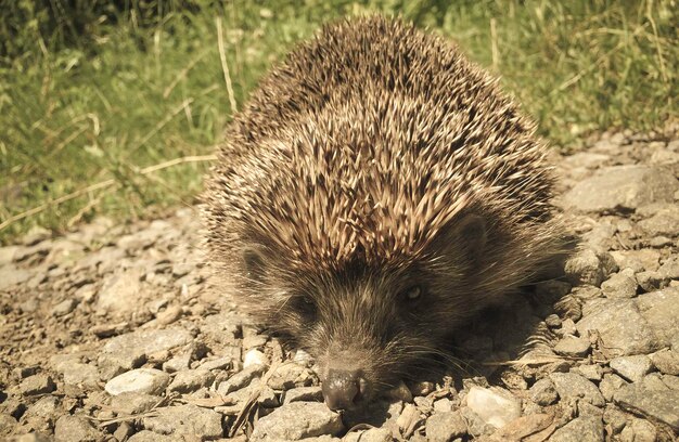
<svg viewBox="0 0 679 442">
<path fill-rule="evenodd" d="M 63 230 L 100 213 L 126 220 L 193 203 L 209 161 L 144 168 L 209 155 L 230 102 L 241 105 L 296 41 L 345 15 L 402 15 L 456 40 L 560 148 L 577 148 L 589 132 L 661 127 L 677 117 L 678 10 L 676 0 L 8 3 L 0 242 L 34 225 Z M 50 204 L 59 198 L 69 199 Z"/>
</svg>

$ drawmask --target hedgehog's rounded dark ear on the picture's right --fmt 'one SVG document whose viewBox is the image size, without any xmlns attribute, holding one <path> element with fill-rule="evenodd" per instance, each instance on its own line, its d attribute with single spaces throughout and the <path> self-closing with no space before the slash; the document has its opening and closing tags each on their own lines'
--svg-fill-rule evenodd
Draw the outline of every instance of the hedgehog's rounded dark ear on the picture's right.
<svg viewBox="0 0 679 442">
<path fill-rule="evenodd" d="M 487 232 L 486 221 L 475 213 L 457 217 L 439 233 L 433 247 L 451 259 L 463 258 L 470 264 L 478 263 L 484 255 Z"/>
</svg>

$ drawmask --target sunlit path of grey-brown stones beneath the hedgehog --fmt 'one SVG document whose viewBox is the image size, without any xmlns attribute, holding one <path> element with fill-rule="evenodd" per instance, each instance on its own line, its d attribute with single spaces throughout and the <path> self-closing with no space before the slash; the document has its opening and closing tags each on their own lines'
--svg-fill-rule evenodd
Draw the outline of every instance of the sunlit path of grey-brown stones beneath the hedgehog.
<svg viewBox="0 0 679 442">
<path fill-rule="evenodd" d="M 210 285 L 194 210 L 31 232 L 0 248 L 0 438 L 674 440 L 679 140 L 618 133 L 554 159 L 581 237 L 565 277 L 461 330 L 463 364 L 363 415 L 330 412 L 310 358 Z"/>
</svg>

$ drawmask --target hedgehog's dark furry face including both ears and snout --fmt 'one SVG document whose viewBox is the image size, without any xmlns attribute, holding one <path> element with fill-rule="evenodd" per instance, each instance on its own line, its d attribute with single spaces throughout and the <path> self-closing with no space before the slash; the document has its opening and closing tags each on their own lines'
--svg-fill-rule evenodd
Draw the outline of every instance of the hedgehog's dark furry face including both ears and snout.
<svg viewBox="0 0 679 442">
<path fill-rule="evenodd" d="M 253 290 L 277 287 L 264 322 L 316 356 L 328 406 L 355 408 L 440 351 L 469 317 L 485 236 L 481 218 L 467 216 L 407 265 L 370 268 L 357 257 L 317 273 L 283 270 L 283 257 L 246 247 L 244 274 Z"/>
</svg>

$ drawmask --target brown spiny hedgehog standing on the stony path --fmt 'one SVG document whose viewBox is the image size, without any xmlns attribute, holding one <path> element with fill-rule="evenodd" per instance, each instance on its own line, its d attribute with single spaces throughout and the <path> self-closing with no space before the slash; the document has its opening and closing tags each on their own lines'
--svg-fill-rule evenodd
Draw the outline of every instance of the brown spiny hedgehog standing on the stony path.
<svg viewBox="0 0 679 442">
<path fill-rule="evenodd" d="M 554 256 L 546 155 L 443 37 L 382 16 L 328 24 L 218 150 L 204 194 L 218 287 L 315 358 L 331 410 L 357 408 Z"/>
</svg>

